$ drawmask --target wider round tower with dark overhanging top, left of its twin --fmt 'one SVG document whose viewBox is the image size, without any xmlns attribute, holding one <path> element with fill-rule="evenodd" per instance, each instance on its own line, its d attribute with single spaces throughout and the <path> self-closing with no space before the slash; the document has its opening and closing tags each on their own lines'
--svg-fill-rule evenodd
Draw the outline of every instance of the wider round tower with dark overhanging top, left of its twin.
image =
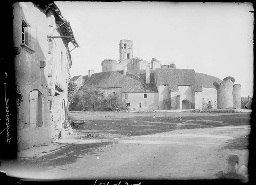
<svg viewBox="0 0 256 185">
<path fill-rule="evenodd" d="M 224 78 L 217 90 L 217 108 L 233 109 L 233 82 L 230 78 Z"/>
</svg>

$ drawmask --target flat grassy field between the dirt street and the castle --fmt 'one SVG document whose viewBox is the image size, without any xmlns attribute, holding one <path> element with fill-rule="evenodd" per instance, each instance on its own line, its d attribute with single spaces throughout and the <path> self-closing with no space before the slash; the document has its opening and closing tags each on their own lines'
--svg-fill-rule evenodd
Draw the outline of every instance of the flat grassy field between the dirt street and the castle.
<svg viewBox="0 0 256 185">
<path fill-rule="evenodd" d="M 155 115 L 155 119 L 153 116 Z M 135 136 L 176 129 L 207 128 L 212 126 L 248 125 L 250 113 L 202 112 L 86 112 L 70 113 L 70 119 L 85 120 L 87 137 L 103 135 Z M 182 117 L 182 120 L 178 120 Z"/>
</svg>

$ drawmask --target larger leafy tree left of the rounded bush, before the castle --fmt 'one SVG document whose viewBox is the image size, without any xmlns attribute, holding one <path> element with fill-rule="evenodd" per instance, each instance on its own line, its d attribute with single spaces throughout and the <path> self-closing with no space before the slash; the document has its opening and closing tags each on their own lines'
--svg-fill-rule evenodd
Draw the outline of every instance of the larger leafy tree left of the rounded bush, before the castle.
<svg viewBox="0 0 256 185">
<path fill-rule="evenodd" d="M 81 111 L 91 111 L 103 102 L 103 92 L 95 85 L 84 86 L 83 95 L 79 98 L 77 109 Z"/>
</svg>

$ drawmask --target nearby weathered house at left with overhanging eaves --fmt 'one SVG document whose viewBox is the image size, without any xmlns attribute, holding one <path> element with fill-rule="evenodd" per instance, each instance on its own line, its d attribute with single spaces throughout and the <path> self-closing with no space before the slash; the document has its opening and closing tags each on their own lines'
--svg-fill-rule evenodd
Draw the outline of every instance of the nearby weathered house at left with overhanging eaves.
<svg viewBox="0 0 256 185">
<path fill-rule="evenodd" d="M 58 138 L 67 119 L 68 44 L 79 47 L 56 4 L 13 4 L 18 150 Z"/>
</svg>

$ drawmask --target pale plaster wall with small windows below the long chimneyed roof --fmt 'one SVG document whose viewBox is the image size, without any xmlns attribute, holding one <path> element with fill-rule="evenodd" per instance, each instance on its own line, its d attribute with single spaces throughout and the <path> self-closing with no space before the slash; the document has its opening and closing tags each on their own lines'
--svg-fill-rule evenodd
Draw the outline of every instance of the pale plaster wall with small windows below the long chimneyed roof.
<svg viewBox="0 0 256 185">
<path fill-rule="evenodd" d="M 125 99 L 125 94 L 127 94 L 127 99 Z M 147 94 L 147 98 L 144 98 L 144 94 Z M 130 103 L 130 110 L 158 109 L 158 93 L 123 93 L 122 100 Z M 141 108 L 139 108 L 139 103 L 141 103 Z"/>
</svg>

